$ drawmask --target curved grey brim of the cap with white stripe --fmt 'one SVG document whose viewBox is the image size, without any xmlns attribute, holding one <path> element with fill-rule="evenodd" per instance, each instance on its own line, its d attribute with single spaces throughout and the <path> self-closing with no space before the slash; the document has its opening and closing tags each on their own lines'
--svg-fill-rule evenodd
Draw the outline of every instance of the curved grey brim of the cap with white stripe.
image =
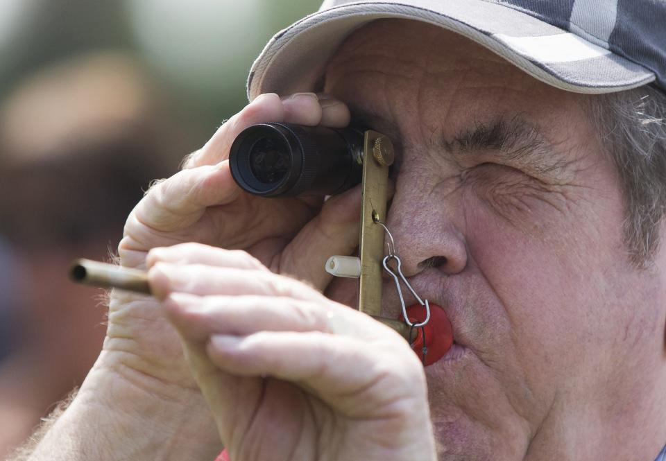
<svg viewBox="0 0 666 461">
<path fill-rule="evenodd" d="M 464 35 L 549 85 L 570 92 L 618 92 L 655 80 L 652 71 L 540 19 L 486 0 L 348 3 L 284 29 L 255 60 L 250 101 L 262 93 L 316 89 L 327 62 L 352 31 L 370 21 L 413 19 Z"/>
</svg>

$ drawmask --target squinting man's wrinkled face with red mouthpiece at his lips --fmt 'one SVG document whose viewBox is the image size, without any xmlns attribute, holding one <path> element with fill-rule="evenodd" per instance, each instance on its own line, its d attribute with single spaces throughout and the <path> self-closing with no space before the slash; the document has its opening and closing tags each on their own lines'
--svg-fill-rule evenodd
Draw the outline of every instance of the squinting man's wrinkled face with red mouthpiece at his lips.
<svg viewBox="0 0 666 461">
<path fill-rule="evenodd" d="M 456 341 L 426 369 L 441 458 L 583 459 L 590 430 L 622 433 L 663 345 L 663 299 L 629 263 L 584 96 L 400 20 L 352 35 L 325 91 L 400 156 L 388 229 Z M 387 280 L 384 315 L 398 309 Z"/>
</svg>

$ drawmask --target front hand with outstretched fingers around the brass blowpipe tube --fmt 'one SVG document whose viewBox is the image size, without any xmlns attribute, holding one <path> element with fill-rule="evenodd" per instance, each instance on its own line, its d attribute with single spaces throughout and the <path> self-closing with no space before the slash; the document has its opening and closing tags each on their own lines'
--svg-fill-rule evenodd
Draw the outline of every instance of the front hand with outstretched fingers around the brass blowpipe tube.
<svg viewBox="0 0 666 461">
<path fill-rule="evenodd" d="M 425 374 L 398 333 L 246 252 L 148 256 L 232 460 L 435 460 Z"/>
</svg>

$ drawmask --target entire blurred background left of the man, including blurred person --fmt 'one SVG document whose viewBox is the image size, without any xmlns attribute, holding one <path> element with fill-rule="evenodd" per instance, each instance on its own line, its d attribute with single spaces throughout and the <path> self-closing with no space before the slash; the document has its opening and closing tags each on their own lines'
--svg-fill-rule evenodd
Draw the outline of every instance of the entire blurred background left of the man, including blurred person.
<svg viewBox="0 0 666 461">
<path fill-rule="evenodd" d="M 0 0 L 0 459 L 83 381 L 108 260 L 151 180 L 246 105 L 269 38 L 320 0 Z"/>
</svg>

